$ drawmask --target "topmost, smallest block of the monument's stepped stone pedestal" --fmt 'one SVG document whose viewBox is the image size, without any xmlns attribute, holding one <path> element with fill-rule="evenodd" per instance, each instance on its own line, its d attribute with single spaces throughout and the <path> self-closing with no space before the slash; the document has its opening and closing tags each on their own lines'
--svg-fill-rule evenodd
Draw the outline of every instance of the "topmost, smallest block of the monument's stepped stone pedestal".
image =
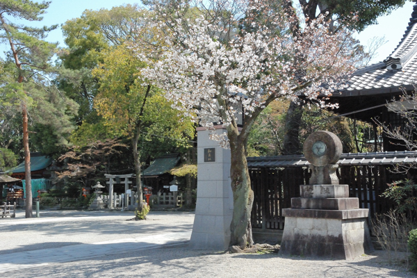
<svg viewBox="0 0 417 278">
<path fill-rule="evenodd" d="M 300 186 L 300 196 L 304 198 L 347 198 L 347 184 L 314 184 Z"/>
</svg>

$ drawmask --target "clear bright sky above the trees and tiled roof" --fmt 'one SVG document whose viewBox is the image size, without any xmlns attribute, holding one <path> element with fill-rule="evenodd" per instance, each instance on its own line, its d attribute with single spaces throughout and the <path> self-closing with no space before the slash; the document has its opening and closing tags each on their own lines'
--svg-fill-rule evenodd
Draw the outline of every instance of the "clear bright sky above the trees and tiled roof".
<svg viewBox="0 0 417 278">
<path fill-rule="evenodd" d="M 138 3 L 136 1 L 126 0 L 51 0 L 51 4 L 47 9 L 47 14 L 40 25 L 50 26 L 53 24 L 64 24 L 67 20 L 80 17 L 84 10 L 99 10 L 100 8 L 111 9 L 114 6 L 120 6 L 124 3 Z M 386 44 L 379 48 L 377 56 L 371 63 L 377 63 L 384 60 L 391 54 L 400 42 L 404 31 L 408 26 L 409 18 L 413 11 L 411 1 L 407 1 L 402 8 L 394 10 L 390 15 L 379 17 L 378 24 L 368 26 L 364 31 L 355 37 L 361 41 L 361 44 L 367 45 L 368 42 L 377 37 L 385 36 Z M 47 40 L 50 42 L 60 42 L 60 47 L 65 47 L 63 35 L 60 28 L 52 31 Z"/>
</svg>

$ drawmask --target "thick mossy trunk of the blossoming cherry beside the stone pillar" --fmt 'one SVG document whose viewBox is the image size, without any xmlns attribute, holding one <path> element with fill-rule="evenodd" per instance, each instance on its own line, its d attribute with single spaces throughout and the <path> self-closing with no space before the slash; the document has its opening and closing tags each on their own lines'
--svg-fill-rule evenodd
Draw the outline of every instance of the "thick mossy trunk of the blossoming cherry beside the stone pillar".
<svg viewBox="0 0 417 278">
<path fill-rule="evenodd" d="M 241 138 L 229 136 L 231 190 L 234 199 L 229 246 L 237 245 L 240 249 L 245 249 L 245 247 L 251 247 L 253 244 L 250 214 L 254 202 L 254 192 L 250 187 L 249 170 L 245 156 L 245 141 L 239 139 Z"/>
</svg>

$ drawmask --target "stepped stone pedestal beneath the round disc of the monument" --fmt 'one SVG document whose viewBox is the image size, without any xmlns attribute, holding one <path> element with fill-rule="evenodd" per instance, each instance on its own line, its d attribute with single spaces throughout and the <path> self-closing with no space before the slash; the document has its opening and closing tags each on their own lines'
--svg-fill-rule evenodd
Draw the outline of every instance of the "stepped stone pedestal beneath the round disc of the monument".
<svg viewBox="0 0 417 278">
<path fill-rule="evenodd" d="M 373 252 L 368 208 L 349 198 L 347 185 L 300 186 L 300 198 L 284 208 L 280 254 L 354 259 Z"/>
</svg>

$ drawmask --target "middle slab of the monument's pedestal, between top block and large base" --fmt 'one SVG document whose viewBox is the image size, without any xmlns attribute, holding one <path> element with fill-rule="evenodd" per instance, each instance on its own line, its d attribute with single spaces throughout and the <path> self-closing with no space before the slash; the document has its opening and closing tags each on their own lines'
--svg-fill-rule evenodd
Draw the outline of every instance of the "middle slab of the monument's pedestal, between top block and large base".
<svg viewBox="0 0 417 278">
<path fill-rule="evenodd" d="M 357 209 L 358 198 L 291 198 L 291 208 L 306 209 Z"/>
</svg>

